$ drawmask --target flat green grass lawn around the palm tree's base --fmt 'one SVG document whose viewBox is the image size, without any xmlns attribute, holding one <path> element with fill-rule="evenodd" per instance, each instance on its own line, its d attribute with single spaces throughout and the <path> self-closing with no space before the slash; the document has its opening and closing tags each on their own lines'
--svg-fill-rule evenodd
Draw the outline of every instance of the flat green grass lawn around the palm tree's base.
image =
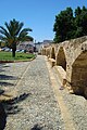
<svg viewBox="0 0 87 130">
<path fill-rule="evenodd" d="M 15 57 L 12 57 L 12 52 L 0 52 L 0 61 L 29 61 L 30 58 L 34 58 L 35 54 L 29 53 L 15 53 Z"/>
</svg>

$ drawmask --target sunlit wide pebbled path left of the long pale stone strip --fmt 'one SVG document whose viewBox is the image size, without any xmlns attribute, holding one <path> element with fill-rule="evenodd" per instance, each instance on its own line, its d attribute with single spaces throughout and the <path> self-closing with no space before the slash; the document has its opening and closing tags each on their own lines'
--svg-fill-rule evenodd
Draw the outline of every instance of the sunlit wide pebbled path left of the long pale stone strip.
<svg viewBox="0 0 87 130">
<path fill-rule="evenodd" d="M 15 87 L 18 95 L 27 95 L 25 100 L 14 101 L 14 109 L 8 115 L 4 130 L 64 130 L 42 56 L 37 56 L 29 63 L 11 63 L 4 66 L 3 69 L 7 69 L 2 74 L 11 76 L 7 81 L 14 84 L 7 87 L 8 91 Z M 18 86 L 17 80 L 21 80 Z"/>
</svg>

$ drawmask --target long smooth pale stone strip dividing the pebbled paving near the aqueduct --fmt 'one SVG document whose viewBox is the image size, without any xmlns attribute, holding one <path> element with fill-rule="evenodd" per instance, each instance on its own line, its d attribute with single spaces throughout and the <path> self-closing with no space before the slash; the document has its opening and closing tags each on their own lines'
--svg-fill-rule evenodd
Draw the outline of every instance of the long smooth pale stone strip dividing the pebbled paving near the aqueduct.
<svg viewBox="0 0 87 130">
<path fill-rule="evenodd" d="M 52 87 L 52 90 L 54 92 L 54 96 L 57 99 L 57 106 L 60 106 L 61 116 L 62 116 L 63 121 L 64 121 L 64 129 L 65 130 L 76 130 L 74 127 L 72 116 L 69 113 L 69 109 L 64 103 L 63 96 L 59 90 L 59 84 L 55 80 L 55 77 L 54 77 L 53 72 L 51 69 L 51 66 L 50 66 L 49 62 L 47 61 L 47 57 L 45 57 L 45 60 L 46 60 L 46 64 L 47 64 L 49 76 L 50 76 L 51 87 Z"/>
</svg>

